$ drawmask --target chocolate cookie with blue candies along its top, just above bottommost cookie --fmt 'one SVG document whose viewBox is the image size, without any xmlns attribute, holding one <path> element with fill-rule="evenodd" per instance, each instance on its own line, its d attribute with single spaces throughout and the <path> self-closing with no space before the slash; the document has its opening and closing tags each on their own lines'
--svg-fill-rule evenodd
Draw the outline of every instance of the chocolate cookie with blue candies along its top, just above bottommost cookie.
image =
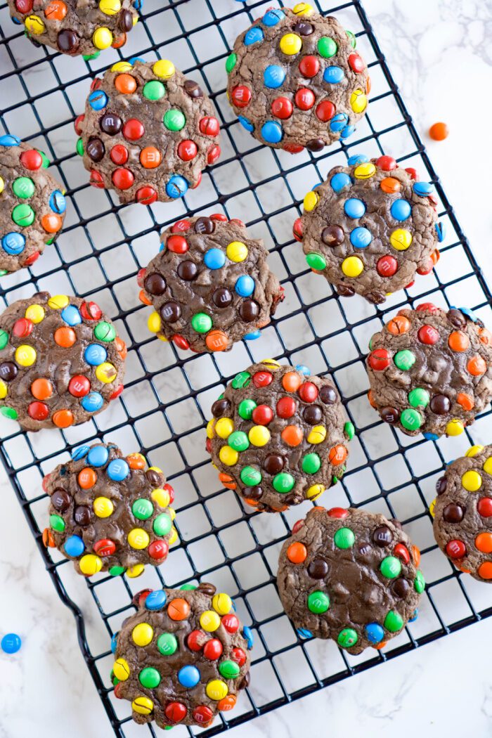
<svg viewBox="0 0 492 738">
<path fill-rule="evenodd" d="M 43 488 L 44 545 L 58 548 L 84 576 L 139 576 L 146 564 L 162 564 L 178 538 L 174 490 L 142 454 L 125 456 L 114 444 L 80 446 L 72 461 L 44 477 Z"/>
</svg>

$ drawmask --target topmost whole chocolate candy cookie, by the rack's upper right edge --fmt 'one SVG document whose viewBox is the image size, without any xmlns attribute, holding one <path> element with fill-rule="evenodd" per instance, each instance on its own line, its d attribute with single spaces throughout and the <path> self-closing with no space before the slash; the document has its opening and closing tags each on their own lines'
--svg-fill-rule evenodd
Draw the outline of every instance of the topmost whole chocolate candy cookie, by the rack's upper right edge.
<svg viewBox="0 0 492 738">
<path fill-rule="evenodd" d="M 308 3 L 271 8 L 235 41 L 227 95 L 246 131 L 295 154 L 347 139 L 367 108 L 356 37 Z"/>
</svg>

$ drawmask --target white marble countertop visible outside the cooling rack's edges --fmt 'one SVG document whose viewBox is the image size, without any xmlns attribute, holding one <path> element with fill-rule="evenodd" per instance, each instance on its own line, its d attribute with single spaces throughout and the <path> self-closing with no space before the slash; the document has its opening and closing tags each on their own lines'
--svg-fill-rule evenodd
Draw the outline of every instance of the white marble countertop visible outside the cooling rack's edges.
<svg viewBox="0 0 492 738">
<path fill-rule="evenodd" d="M 492 282 L 492 148 L 479 130 L 492 113 L 492 2 L 365 0 L 364 7 Z M 445 142 L 426 135 L 436 120 L 451 129 Z M 109 738 L 111 728 L 80 655 L 72 614 L 58 600 L 3 472 L 0 499 L 0 636 L 15 631 L 24 640 L 17 655 L 0 652 L 0 737 Z M 313 729 L 333 738 L 353 732 L 378 738 L 441 738 L 465 731 L 477 738 L 491 735 L 491 634 L 491 621 L 474 625 L 232 733 L 235 738 L 294 737 Z"/>
</svg>

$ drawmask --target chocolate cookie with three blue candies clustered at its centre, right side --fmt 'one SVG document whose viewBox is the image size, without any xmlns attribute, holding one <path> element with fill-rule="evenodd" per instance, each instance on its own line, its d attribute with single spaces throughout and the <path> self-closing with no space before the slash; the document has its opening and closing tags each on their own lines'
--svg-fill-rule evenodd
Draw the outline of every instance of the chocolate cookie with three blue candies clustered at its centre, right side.
<svg viewBox="0 0 492 738">
<path fill-rule="evenodd" d="M 305 196 L 294 238 L 308 266 L 339 294 L 384 303 L 415 273 L 432 272 L 443 224 L 436 222 L 434 186 L 415 177 L 391 156 L 350 156 Z"/>
</svg>

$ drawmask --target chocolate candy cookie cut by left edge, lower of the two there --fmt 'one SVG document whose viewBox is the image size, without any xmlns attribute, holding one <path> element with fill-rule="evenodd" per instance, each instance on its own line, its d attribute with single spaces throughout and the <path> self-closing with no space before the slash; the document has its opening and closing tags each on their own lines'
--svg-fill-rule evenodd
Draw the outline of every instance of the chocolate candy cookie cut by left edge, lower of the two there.
<svg viewBox="0 0 492 738">
<path fill-rule="evenodd" d="M 125 356 L 96 303 L 17 300 L 0 315 L 0 413 L 24 430 L 84 423 L 121 394 Z"/>
</svg>

